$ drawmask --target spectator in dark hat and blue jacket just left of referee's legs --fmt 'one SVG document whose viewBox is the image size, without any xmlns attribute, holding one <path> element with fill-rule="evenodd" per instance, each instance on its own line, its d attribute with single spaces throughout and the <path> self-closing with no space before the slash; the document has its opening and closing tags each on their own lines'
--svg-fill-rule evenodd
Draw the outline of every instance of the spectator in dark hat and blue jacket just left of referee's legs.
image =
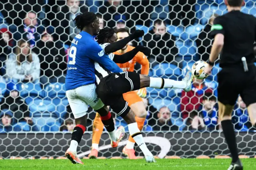
<svg viewBox="0 0 256 170">
<path fill-rule="evenodd" d="M 202 104 L 203 109 L 200 114 L 204 118 L 204 124 L 207 126 L 208 130 L 216 130 L 218 124 L 218 114 L 214 108 L 216 97 L 212 93 L 205 93 Z"/>
</svg>

